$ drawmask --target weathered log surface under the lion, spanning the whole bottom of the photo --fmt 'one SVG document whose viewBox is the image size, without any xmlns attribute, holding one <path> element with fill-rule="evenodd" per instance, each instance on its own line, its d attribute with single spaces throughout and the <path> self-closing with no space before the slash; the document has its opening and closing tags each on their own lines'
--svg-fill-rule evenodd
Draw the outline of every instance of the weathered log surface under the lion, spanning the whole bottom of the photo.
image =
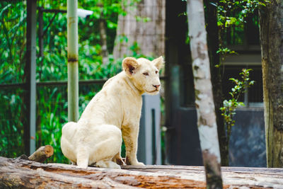
<svg viewBox="0 0 283 189">
<path fill-rule="evenodd" d="M 224 188 L 282 188 L 282 168 L 221 168 Z M 206 188 L 202 166 L 122 169 L 41 164 L 0 157 L 0 188 Z"/>
</svg>

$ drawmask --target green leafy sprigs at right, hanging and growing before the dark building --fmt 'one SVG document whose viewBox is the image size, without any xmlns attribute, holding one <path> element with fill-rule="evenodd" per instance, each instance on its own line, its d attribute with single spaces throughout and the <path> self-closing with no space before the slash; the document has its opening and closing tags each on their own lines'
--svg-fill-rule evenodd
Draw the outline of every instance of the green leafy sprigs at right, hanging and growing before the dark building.
<svg viewBox="0 0 283 189">
<path fill-rule="evenodd" d="M 219 26 L 219 50 L 217 53 L 221 55 L 221 61 L 224 61 L 226 55 L 236 54 L 235 51 L 230 50 L 226 45 L 236 45 L 243 43 L 244 23 L 246 18 L 258 11 L 259 6 L 266 6 L 269 1 L 265 0 L 220 0 L 217 6 L 217 25 Z M 255 21 L 253 24 L 258 24 Z M 233 30 L 233 31 L 231 31 Z M 231 41 L 227 40 L 227 35 L 233 35 L 234 42 L 229 44 Z M 220 67 L 221 64 L 217 64 L 216 67 Z M 231 127 L 234 125 L 233 115 L 235 115 L 235 109 L 238 106 L 243 106 L 242 102 L 238 102 L 239 96 L 245 92 L 245 90 L 253 85 L 254 81 L 249 81 L 249 71 L 251 69 L 243 69 L 240 73 L 241 80 L 233 79 L 234 84 L 231 88 L 231 99 L 223 102 L 223 107 L 220 108 L 222 116 L 225 120 L 227 135 L 230 136 Z M 229 139 L 228 139 L 229 142 Z"/>
</svg>

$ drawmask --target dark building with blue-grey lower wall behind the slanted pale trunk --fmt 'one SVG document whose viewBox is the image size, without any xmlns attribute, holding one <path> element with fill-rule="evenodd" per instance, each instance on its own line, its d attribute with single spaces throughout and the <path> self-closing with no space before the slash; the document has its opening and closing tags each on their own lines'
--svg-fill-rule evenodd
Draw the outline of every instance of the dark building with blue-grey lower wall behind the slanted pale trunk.
<svg viewBox="0 0 283 189">
<path fill-rule="evenodd" d="M 185 1 L 166 1 L 166 164 L 202 165 L 197 132 L 195 92 L 187 40 Z M 262 71 L 259 30 L 254 20 L 247 18 L 243 30 L 232 28 L 226 33 L 226 45 L 237 55 L 229 55 L 221 66 L 224 99 L 230 98 L 233 83 L 243 68 L 253 69 L 255 80 L 240 99 L 246 106 L 236 110 L 232 128 L 230 166 L 266 166 L 265 129 L 262 106 Z M 241 40 L 237 40 L 241 38 Z M 253 159 L 253 161 L 250 161 Z"/>
</svg>

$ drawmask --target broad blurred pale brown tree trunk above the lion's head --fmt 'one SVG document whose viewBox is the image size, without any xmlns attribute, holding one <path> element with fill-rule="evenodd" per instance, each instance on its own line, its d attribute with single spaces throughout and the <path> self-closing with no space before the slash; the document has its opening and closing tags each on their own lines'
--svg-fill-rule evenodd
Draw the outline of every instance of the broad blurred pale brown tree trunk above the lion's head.
<svg viewBox="0 0 283 189">
<path fill-rule="evenodd" d="M 127 15 L 118 17 L 114 59 L 133 56 L 134 51 L 149 57 L 164 55 L 165 1 L 144 0 L 125 9 Z"/>
</svg>

